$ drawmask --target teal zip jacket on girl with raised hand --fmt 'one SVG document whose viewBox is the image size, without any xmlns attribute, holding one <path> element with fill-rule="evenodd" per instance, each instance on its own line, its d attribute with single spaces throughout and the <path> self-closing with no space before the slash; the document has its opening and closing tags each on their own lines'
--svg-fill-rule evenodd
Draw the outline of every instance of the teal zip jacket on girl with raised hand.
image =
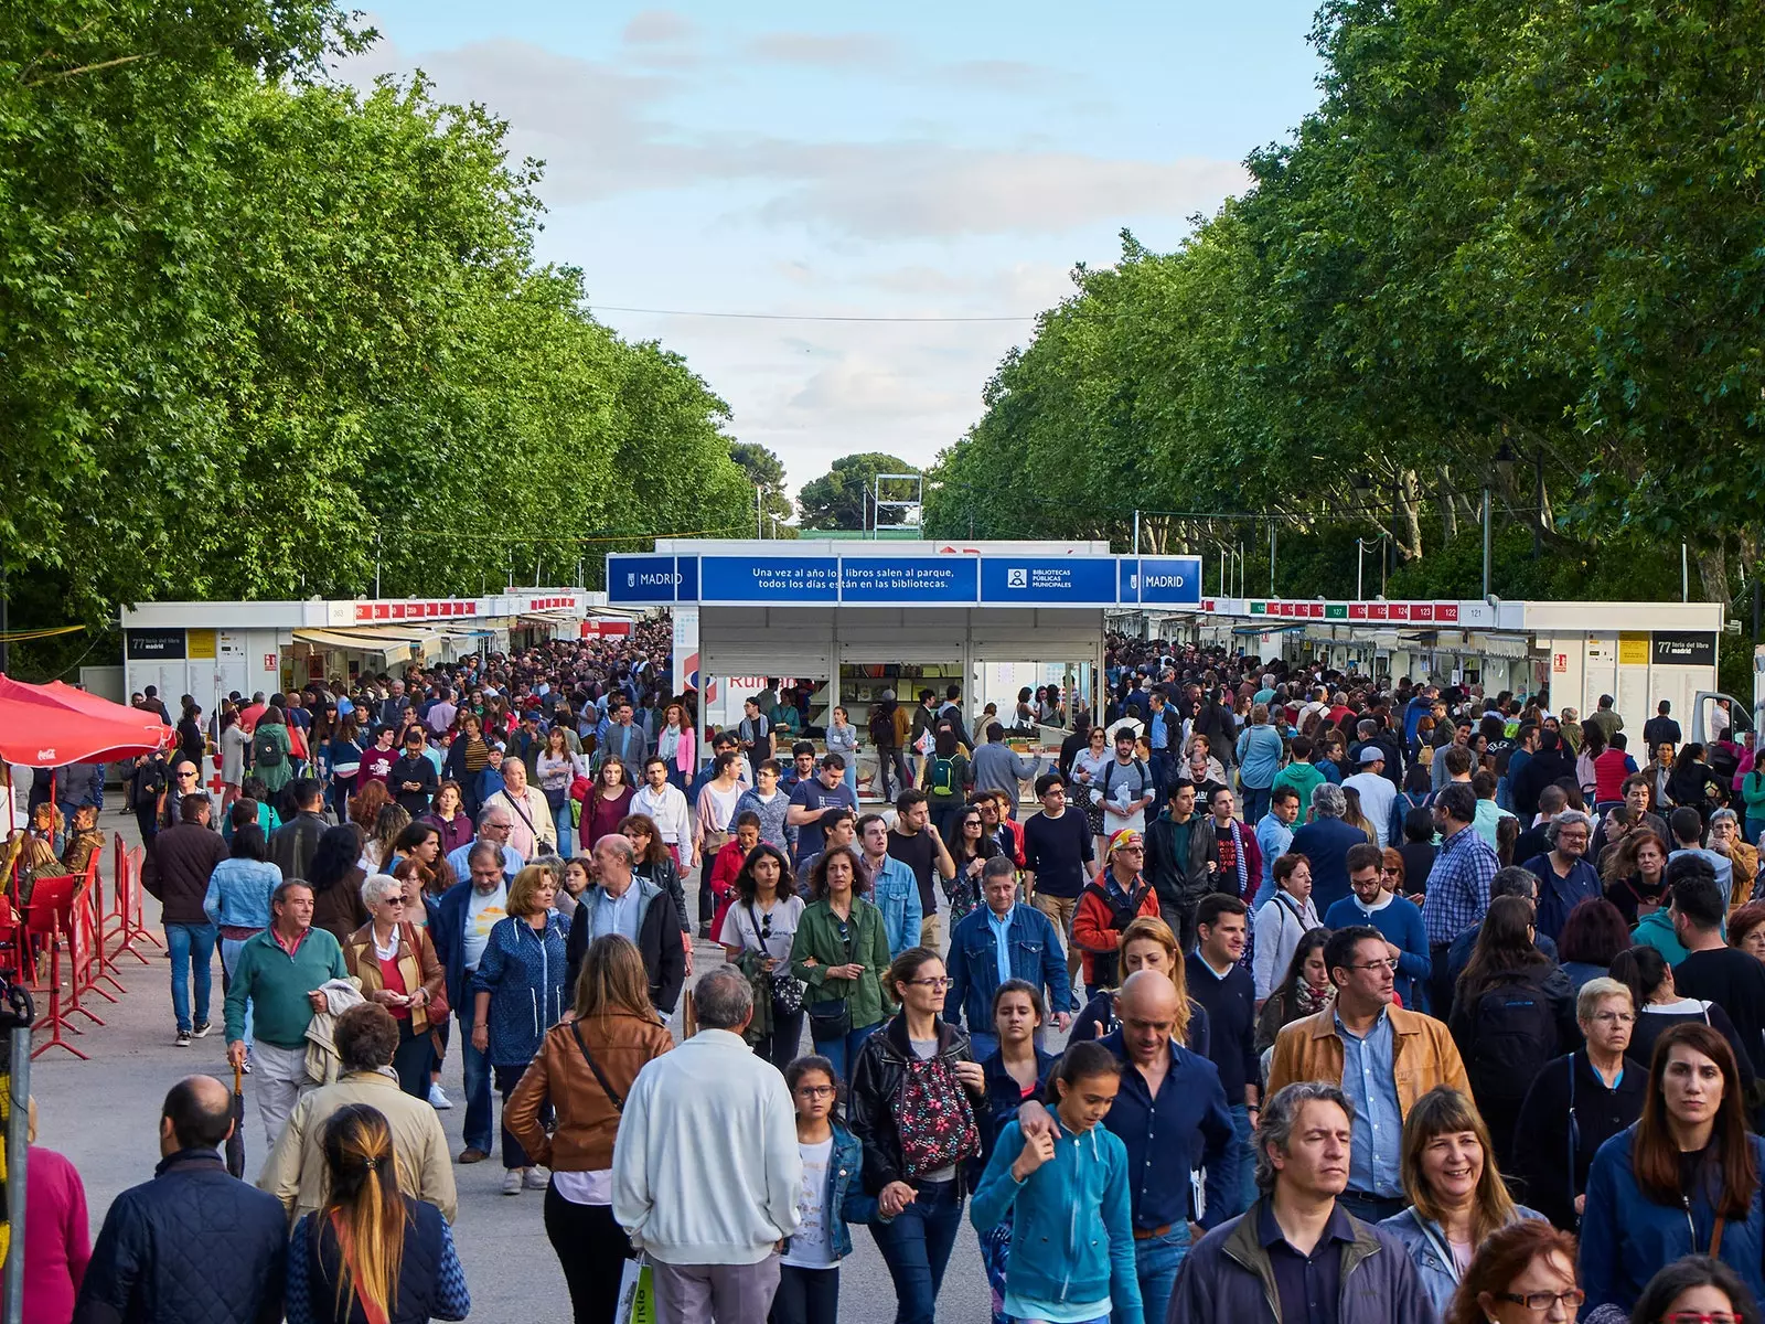
<svg viewBox="0 0 1765 1324">
<path fill-rule="evenodd" d="M 1107 1299 L 1115 1319 L 1140 1319 L 1128 1147 L 1101 1125 L 1063 1133 L 1054 1158 L 1018 1183 L 1011 1163 L 1022 1149 L 1024 1133 L 1008 1121 L 969 1200 L 978 1232 L 1011 1215 L 1011 1290 L 1075 1306 Z"/>
</svg>

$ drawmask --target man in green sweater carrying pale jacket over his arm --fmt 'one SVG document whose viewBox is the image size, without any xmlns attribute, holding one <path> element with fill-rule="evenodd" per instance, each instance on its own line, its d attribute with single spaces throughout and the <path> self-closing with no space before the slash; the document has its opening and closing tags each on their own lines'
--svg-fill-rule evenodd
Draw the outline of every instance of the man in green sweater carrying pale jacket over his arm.
<svg viewBox="0 0 1765 1324">
<path fill-rule="evenodd" d="M 342 978 L 342 948 L 312 927 L 312 888 L 300 879 L 282 883 L 270 895 L 270 927 L 240 948 L 226 990 L 226 1056 L 233 1066 L 245 1064 L 247 999 L 252 1004 L 258 1112 L 272 1149 L 295 1103 L 314 1087 L 307 1026 L 325 1010 L 319 985 Z"/>
</svg>

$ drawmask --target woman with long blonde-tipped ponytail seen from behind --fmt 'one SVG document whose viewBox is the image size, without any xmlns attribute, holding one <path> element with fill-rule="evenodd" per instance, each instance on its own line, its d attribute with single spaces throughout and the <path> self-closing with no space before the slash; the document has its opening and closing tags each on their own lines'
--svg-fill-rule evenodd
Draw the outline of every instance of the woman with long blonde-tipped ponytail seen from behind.
<svg viewBox="0 0 1765 1324">
<path fill-rule="evenodd" d="M 325 1206 L 288 1243 L 288 1324 L 466 1319 L 471 1294 L 441 1211 L 399 1192 L 392 1128 L 367 1103 L 325 1123 Z"/>
</svg>

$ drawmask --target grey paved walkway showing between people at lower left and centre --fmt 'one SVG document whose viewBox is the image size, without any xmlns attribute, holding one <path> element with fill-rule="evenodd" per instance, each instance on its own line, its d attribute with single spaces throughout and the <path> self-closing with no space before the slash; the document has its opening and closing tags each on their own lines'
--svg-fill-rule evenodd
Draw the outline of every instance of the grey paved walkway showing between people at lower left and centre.
<svg viewBox="0 0 1765 1324">
<path fill-rule="evenodd" d="M 106 831 L 122 831 L 124 840 L 138 840 L 132 816 L 106 810 Z M 106 858 L 108 867 L 108 858 Z M 157 922 L 157 906 L 146 899 L 148 925 Z M 224 1082 L 233 1073 L 226 1064 L 221 1012 L 221 962 L 214 967 L 215 1031 L 189 1049 L 173 1045 L 169 967 L 164 953 L 148 946 L 146 966 L 131 960 L 122 980 L 127 996 L 118 1004 L 94 1001 L 106 1027 L 90 1027 L 74 1042 L 92 1061 L 81 1063 L 51 1049 L 32 1063 L 32 1095 L 39 1109 L 39 1144 L 67 1155 L 86 1185 L 92 1236 L 104 1222 L 104 1211 L 118 1192 L 154 1174 L 159 1162 L 159 1107 L 166 1091 L 184 1075 L 208 1072 Z M 722 960 L 722 948 L 699 943 L 695 969 Z M 805 1045 L 807 1047 L 807 1045 Z M 459 1052 L 452 1052 L 443 1077 L 448 1095 L 462 1095 Z M 265 1158 L 265 1135 L 245 1080 L 245 1165 L 256 1176 Z M 441 1114 L 454 1153 L 461 1149 L 464 1109 Z M 501 1165 L 492 1156 L 473 1167 L 455 1167 L 459 1179 L 459 1222 L 455 1241 L 471 1285 L 473 1319 L 521 1320 L 522 1324 L 570 1324 L 570 1299 L 563 1275 L 545 1241 L 540 1218 L 542 1192 L 517 1197 L 501 1193 Z M 888 1324 L 895 1319 L 895 1290 L 888 1269 L 868 1230 L 854 1229 L 854 1253 L 845 1260 L 840 1282 L 842 1324 Z M 983 1324 L 988 1319 L 987 1280 L 980 1266 L 974 1232 L 964 1222 L 957 1250 L 950 1260 L 939 1317 Z"/>
</svg>

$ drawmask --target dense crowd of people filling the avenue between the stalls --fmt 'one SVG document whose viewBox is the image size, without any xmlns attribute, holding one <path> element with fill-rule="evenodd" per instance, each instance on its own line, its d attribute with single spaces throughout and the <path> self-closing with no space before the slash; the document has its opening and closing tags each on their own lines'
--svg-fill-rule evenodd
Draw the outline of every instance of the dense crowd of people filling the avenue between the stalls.
<svg viewBox="0 0 1765 1324">
<path fill-rule="evenodd" d="M 928 1322 L 964 1215 L 995 1320 L 1760 1319 L 1751 733 L 1119 637 L 1101 720 L 1020 696 L 1047 759 L 958 687 L 701 731 L 648 628 L 141 761 L 175 1042 L 219 946 L 270 1151 L 180 1082 L 28 1317 L 459 1319 L 494 1153 L 597 1324 L 639 1259 L 667 1324 L 833 1324 L 856 1229 Z"/>
</svg>

